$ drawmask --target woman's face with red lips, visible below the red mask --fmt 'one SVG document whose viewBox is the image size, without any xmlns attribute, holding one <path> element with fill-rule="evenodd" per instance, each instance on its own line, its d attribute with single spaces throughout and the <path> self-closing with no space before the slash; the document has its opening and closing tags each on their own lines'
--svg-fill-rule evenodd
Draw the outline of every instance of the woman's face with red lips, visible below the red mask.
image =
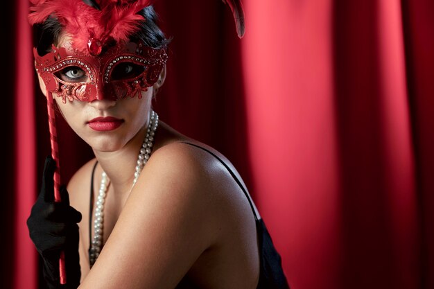
<svg viewBox="0 0 434 289">
<path fill-rule="evenodd" d="M 64 47 L 69 43 L 69 37 L 62 37 L 58 47 Z M 69 44 L 70 45 L 70 44 Z M 123 67 L 128 73 L 130 67 Z M 164 73 L 162 73 L 164 75 Z M 160 75 L 160 77 L 162 77 Z M 64 69 L 60 78 L 69 78 L 69 81 L 77 79 L 78 82 L 89 82 L 84 71 L 77 68 Z M 45 84 L 39 77 L 40 86 L 45 93 Z M 159 87 L 162 81 L 155 86 Z M 154 87 L 148 87 L 146 91 L 140 91 L 134 97 L 125 96 L 114 100 L 100 96 L 92 101 L 80 101 L 77 99 L 66 100 L 53 93 L 64 119 L 80 138 L 86 141 L 94 150 L 111 152 L 125 146 L 141 128 L 146 125 L 150 114 L 151 100 Z M 106 90 L 98 91 L 99 94 Z"/>
</svg>

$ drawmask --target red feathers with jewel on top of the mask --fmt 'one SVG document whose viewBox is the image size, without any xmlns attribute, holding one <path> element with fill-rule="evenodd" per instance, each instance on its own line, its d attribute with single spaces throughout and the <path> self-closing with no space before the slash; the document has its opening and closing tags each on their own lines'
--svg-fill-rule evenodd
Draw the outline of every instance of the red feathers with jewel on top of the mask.
<svg viewBox="0 0 434 289">
<path fill-rule="evenodd" d="M 44 23 L 50 15 L 56 17 L 64 30 L 74 35 L 76 49 L 89 49 L 95 55 L 101 53 L 99 48 L 111 40 L 127 41 L 130 35 L 139 30 L 139 21 L 146 21 L 137 13 L 153 3 L 153 0 L 89 1 L 97 9 L 83 0 L 31 0 L 28 20 L 33 25 Z M 243 37 L 245 25 L 241 0 L 222 1 L 229 5 L 234 14 L 238 37 Z"/>
</svg>

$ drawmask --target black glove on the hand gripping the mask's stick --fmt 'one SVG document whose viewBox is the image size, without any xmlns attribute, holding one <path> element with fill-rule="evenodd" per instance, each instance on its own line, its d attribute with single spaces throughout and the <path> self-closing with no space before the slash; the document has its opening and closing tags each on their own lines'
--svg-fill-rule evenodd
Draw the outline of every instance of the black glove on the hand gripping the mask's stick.
<svg viewBox="0 0 434 289">
<path fill-rule="evenodd" d="M 54 202 L 55 161 L 47 157 L 44 166 L 42 188 L 27 219 L 30 237 L 44 261 L 43 274 L 47 287 L 78 288 L 80 262 L 78 256 L 78 225 L 81 213 L 69 206 L 67 189 L 60 188 L 61 202 Z M 60 285 L 59 259 L 64 252 L 67 283 Z"/>
</svg>

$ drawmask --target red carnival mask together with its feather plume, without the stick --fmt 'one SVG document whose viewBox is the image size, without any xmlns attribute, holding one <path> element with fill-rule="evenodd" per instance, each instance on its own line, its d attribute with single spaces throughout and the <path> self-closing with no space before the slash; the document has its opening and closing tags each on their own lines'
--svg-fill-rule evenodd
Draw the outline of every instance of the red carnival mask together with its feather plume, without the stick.
<svg viewBox="0 0 434 289">
<path fill-rule="evenodd" d="M 35 67 L 48 92 L 66 99 L 98 99 L 139 96 L 155 84 L 167 61 L 166 48 L 152 49 L 129 42 L 146 21 L 139 11 L 153 0 L 31 0 L 29 22 L 43 23 L 55 17 L 71 43 L 40 56 L 34 50 Z M 223 0 L 232 9 L 239 37 L 244 34 L 244 13 L 240 0 Z M 116 45 L 113 46 L 113 43 Z M 119 70 L 132 69 L 128 73 Z M 67 71 L 65 73 L 65 71 Z M 78 77 L 68 77 L 75 71 Z M 125 72 L 125 71 L 124 71 Z M 127 71 L 128 72 L 128 71 Z"/>
</svg>

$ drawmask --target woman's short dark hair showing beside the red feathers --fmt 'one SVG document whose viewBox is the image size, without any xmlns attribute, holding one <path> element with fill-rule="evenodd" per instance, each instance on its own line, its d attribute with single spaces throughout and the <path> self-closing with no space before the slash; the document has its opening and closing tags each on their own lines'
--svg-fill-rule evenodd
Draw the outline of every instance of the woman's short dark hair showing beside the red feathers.
<svg viewBox="0 0 434 289">
<path fill-rule="evenodd" d="M 99 10 L 98 4 L 93 0 L 83 0 L 87 5 Z M 146 21 L 139 23 L 140 29 L 130 36 L 130 40 L 141 40 L 146 46 L 158 49 L 166 46 L 170 40 L 166 39 L 163 31 L 157 25 L 158 16 L 153 6 L 148 6 L 139 12 Z M 51 44 L 57 45 L 60 34 L 62 33 L 62 25 L 55 17 L 49 17 L 44 24 L 36 26 L 37 53 L 44 55 L 51 51 Z"/>
</svg>

